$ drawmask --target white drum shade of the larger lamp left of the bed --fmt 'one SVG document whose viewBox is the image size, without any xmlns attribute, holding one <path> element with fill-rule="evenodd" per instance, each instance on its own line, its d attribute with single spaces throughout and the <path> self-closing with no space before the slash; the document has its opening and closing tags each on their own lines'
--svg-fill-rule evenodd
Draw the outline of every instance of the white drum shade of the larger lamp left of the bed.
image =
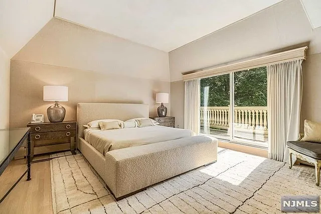
<svg viewBox="0 0 321 214">
<path fill-rule="evenodd" d="M 68 86 L 44 86 L 44 101 L 68 101 Z"/>
</svg>

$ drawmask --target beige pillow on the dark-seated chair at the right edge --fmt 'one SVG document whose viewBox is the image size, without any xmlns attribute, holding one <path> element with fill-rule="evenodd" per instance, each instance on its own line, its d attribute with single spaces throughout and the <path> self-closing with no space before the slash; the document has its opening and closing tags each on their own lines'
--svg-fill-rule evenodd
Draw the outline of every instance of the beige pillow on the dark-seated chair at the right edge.
<svg viewBox="0 0 321 214">
<path fill-rule="evenodd" d="M 303 141 L 321 143 L 321 124 L 304 120 Z"/>
</svg>

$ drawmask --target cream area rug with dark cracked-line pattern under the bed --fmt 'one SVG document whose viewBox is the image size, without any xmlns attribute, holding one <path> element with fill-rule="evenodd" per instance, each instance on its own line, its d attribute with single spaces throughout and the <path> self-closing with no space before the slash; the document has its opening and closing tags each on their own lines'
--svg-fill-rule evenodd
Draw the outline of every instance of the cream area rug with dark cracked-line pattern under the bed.
<svg viewBox="0 0 321 214">
<path fill-rule="evenodd" d="M 81 154 L 51 160 L 54 213 L 280 213 L 282 195 L 321 195 L 314 170 L 220 149 L 218 161 L 115 201 Z"/>
</svg>

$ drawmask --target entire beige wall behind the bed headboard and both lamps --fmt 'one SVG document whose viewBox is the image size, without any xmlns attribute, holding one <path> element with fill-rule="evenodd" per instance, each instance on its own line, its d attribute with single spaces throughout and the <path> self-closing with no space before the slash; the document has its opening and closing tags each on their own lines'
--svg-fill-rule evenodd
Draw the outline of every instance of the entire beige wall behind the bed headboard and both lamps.
<svg viewBox="0 0 321 214">
<path fill-rule="evenodd" d="M 69 87 L 65 120 L 78 102 L 146 103 L 156 116 L 155 93 L 171 90 L 168 53 L 56 18 L 12 59 L 10 83 L 11 127 L 48 120 L 44 85 Z"/>
</svg>

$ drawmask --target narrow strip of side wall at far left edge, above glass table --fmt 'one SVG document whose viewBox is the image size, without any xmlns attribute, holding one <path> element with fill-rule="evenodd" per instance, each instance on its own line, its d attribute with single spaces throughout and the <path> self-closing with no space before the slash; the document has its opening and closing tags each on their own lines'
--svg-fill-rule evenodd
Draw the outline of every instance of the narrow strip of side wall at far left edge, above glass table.
<svg viewBox="0 0 321 214">
<path fill-rule="evenodd" d="M 10 59 L 0 47 L 0 129 L 9 127 L 9 96 Z"/>
</svg>

